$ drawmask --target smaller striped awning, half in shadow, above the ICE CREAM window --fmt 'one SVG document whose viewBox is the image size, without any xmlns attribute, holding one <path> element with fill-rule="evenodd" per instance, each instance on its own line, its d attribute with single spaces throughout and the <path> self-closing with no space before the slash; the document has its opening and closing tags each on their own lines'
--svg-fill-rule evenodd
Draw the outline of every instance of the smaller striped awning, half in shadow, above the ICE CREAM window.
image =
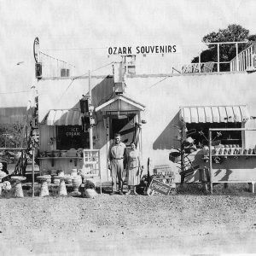
<svg viewBox="0 0 256 256">
<path fill-rule="evenodd" d="M 44 118 L 45 125 L 82 125 L 79 109 L 50 109 Z"/>
</svg>

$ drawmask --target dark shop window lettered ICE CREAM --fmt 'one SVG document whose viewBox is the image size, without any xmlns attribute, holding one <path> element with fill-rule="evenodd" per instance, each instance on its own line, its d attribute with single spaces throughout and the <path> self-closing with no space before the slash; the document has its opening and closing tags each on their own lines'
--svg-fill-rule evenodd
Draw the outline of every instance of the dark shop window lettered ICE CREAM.
<svg viewBox="0 0 256 256">
<path fill-rule="evenodd" d="M 84 132 L 81 125 L 61 125 L 56 129 L 56 149 L 90 148 L 89 133 Z"/>
</svg>

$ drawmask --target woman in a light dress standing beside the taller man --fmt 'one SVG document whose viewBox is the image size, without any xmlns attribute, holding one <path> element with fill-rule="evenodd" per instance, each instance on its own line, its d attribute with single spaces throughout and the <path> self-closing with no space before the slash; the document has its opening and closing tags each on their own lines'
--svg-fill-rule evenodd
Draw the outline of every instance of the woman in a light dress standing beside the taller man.
<svg viewBox="0 0 256 256">
<path fill-rule="evenodd" d="M 134 191 L 134 195 L 137 195 L 136 186 L 140 183 L 140 168 L 141 160 L 139 152 L 136 149 L 134 143 L 131 143 L 131 149 L 128 150 L 128 192 L 126 195 L 131 194 L 131 190 Z"/>
</svg>

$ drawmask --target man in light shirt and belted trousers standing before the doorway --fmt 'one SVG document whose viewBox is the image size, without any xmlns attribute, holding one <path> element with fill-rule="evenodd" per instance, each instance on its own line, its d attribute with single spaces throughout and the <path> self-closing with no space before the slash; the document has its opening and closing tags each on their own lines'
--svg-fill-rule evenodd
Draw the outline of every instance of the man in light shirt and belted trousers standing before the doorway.
<svg viewBox="0 0 256 256">
<path fill-rule="evenodd" d="M 109 148 L 108 159 L 110 160 L 112 176 L 112 193 L 117 192 L 117 179 L 119 182 L 119 195 L 123 195 L 123 171 L 124 171 L 125 144 L 121 143 L 119 133 L 114 135 L 114 143 Z"/>
</svg>

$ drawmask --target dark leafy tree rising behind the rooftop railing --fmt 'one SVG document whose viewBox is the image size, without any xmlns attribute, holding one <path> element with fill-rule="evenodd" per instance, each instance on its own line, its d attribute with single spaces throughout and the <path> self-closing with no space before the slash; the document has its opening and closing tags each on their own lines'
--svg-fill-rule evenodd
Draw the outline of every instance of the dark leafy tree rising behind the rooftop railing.
<svg viewBox="0 0 256 256">
<path fill-rule="evenodd" d="M 247 44 L 238 44 L 238 52 L 246 49 L 252 41 L 256 40 L 256 35 L 249 35 L 249 30 L 246 28 L 232 24 L 227 28 L 219 29 L 218 32 L 210 32 L 202 38 L 203 43 L 223 43 L 223 42 L 242 42 L 247 41 Z M 217 44 L 210 44 L 208 49 L 201 52 L 201 62 L 218 61 Z M 236 44 L 220 44 L 219 61 L 231 61 L 236 56 Z M 192 63 L 199 62 L 199 57 L 196 56 Z M 229 65 L 222 65 L 221 71 L 228 71 Z"/>
</svg>

